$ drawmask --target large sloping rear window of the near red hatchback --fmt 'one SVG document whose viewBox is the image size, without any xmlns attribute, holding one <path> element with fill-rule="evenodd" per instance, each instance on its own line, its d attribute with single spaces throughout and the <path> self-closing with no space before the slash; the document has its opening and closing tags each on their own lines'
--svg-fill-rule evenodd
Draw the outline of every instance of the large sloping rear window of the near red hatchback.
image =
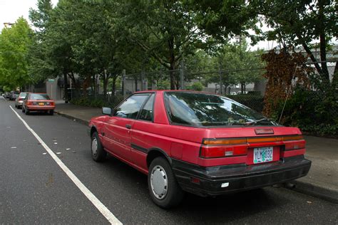
<svg viewBox="0 0 338 225">
<path fill-rule="evenodd" d="M 232 125 L 277 125 L 255 110 L 220 95 L 166 92 L 165 107 L 170 122 L 194 127 Z"/>
</svg>

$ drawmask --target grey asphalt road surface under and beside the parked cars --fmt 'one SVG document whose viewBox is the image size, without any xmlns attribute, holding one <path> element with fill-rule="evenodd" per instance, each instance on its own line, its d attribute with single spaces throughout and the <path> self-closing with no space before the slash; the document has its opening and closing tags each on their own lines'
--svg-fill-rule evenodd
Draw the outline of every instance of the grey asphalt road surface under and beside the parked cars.
<svg viewBox="0 0 338 225">
<path fill-rule="evenodd" d="M 0 224 L 108 224 L 10 105 L 0 97 Z M 123 224 L 338 224 L 337 204 L 272 187 L 217 198 L 187 194 L 165 211 L 151 202 L 145 175 L 113 157 L 93 162 L 85 125 L 14 110 Z"/>
</svg>

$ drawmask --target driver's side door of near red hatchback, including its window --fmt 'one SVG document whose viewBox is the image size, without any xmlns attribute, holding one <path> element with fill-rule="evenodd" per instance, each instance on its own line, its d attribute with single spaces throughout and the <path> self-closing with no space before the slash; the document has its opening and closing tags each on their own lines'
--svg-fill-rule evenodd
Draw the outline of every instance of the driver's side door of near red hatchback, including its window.
<svg viewBox="0 0 338 225">
<path fill-rule="evenodd" d="M 148 97 L 148 93 L 131 95 L 116 108 L 113 116 L 106 119 L 102 130 L 106 149 L 128 162 L 132 162 L 131 130 L 140 108 Z"/>
</svg>

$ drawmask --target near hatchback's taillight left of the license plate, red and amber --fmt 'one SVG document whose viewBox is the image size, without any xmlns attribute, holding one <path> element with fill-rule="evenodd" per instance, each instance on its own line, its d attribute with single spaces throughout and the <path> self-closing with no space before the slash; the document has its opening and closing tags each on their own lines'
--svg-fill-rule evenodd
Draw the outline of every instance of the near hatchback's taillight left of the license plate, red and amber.
<svg viewBox="0 0 338 225">
<path fill-rule="evenodd" d="M 232 157 L 247 155 L 246 139 L 204 140 L 200 148 L 200 157 Z"/>
</svg>

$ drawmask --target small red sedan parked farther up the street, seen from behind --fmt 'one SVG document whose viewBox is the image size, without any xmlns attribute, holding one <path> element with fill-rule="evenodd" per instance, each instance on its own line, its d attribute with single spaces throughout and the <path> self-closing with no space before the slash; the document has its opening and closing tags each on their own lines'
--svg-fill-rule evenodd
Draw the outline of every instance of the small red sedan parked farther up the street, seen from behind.
<svg viewBox="0 0 338 225">
<path fill-rule="evenodd" d="M 53 115 L 54 109 L 55 102 L 46 93 L 28 93 L 22 103 L 22 112 L 26 115 L 32 111 L 48 112 L 49 115 Z"/>
</svg>

